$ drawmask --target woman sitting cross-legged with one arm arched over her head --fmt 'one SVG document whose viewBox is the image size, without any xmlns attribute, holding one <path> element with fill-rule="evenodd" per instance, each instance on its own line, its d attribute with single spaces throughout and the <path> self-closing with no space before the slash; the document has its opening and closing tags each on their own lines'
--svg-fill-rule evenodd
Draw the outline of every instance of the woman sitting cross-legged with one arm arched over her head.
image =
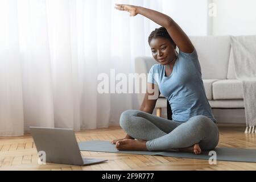
<svg viewBox="0 0 256 182">
<path fill-rule="evenodd" d="M 141 14 L 162 26 L 148 38 L 152 56 L 159 63 L 150 69 L 148 86 L 159 86 L 159 93 L 171 104 L 173 121 L 152 115 L 157 99 L 151 100 L 149 96 L 154 93 L 147 91 L 140 110 L 127 110 L 121 115 L 120 125 L 126 137 L 111 143 L 117 150 L 177 150 L 195 154 L 215 148 L 218 127 L 191 40 L 172 18 L 158 11 L 119 4 L 115 9 L 128 11 L 130 16 Z M 158 78 L 155 74 L 159 74 Z"/>
</svg>

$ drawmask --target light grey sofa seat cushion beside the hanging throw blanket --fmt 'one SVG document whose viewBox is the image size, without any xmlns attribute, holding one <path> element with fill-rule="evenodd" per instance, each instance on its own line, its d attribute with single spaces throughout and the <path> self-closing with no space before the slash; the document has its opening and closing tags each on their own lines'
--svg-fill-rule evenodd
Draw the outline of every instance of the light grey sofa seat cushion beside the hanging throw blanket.
<svg viewBox="0 0 256 182">
<path fill-rule="evenodd" d="M 242 82 L 219 80 L 212 84 L 213 100 L 243 99 Z"/>
</svg>

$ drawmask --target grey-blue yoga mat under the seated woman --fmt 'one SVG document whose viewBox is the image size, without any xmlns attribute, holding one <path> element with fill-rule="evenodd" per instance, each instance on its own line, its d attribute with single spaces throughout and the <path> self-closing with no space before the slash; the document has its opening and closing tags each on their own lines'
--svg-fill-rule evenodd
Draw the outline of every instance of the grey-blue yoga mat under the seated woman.
<svg viewBox="0 0 256 182">
<path fill-rule="evenodd" d="M 81 151 L 93 152 L 112 152 L 118 154 L 139 154 L 139 155 L 160 155 L 175 158 L 191 158 L 191 159 L 207 159 L 212 155 L 209 151 L 202 151 L 200 155 L 195 155 L 189 152 L 175 152 L 175 151 L 118 151 L 114 144 L 109 141 L 91 140 L 87 142 L 79 142 Z M 245 148 L 221 148 L 217 147 L 214 150 L 217 154 L 217 160 L 234 161 L 234 162 L 256 162 L 256 150 Z"/>
</svg>

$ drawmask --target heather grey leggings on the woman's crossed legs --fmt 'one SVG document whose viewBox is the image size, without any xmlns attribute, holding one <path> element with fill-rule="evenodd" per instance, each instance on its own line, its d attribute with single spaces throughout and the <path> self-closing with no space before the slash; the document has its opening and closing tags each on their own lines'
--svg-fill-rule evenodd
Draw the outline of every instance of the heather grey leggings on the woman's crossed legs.
<svg viewBox="0 0 256 182">
<path fill-rule="evenodd" d="M 218 144 L 218 127 L 212 119 L 196 115 L 187 122 L 170 121 L 139 110 L 126 110 L 120 125 L 128 135 L 146 140 L 148 151 L 174 150 L 199 143 L 201 150 L 210 150 Z"/>
</svg>

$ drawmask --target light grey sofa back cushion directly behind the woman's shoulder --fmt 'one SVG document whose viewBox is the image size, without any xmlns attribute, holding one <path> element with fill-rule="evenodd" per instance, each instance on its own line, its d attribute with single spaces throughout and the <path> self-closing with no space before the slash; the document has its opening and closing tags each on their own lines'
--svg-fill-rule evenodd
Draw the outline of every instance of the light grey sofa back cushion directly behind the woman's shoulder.
<svg viewBox="0 0 256 182">
<path fill-rule="evenodd" d="M 197 50 L 203 79 L 226 79 L 230 53 L 229 36 L 190 36 Z"/>
</svg>

